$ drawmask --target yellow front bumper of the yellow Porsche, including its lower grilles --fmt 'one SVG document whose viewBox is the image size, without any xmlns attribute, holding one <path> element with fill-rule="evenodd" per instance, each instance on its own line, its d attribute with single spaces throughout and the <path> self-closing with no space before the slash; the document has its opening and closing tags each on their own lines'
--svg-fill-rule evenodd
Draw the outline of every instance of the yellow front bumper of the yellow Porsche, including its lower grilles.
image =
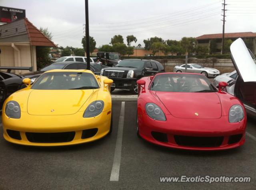
<svg viewBox="0 0 256 190">
<path fill-rule="evenodd" d="M 95 141 L 108 134 L 111 110 L 95 118 L 83 118 L 83 114 L 34 116 L 22 112 L 20 119 L 13 119 L 3 113 L 4 139 L 20 145 L 63 146 Z"/>
</svg>

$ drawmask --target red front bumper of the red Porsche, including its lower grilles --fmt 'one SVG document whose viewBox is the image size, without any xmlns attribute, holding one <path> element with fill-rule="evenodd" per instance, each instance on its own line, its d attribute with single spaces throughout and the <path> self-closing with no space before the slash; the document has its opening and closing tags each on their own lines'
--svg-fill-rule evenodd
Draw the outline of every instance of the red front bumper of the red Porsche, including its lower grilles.
<svg viewBox="0 0 256 190">
<path fill-rule="evenodd" d="M 157 121 L 146 114 L 140 114 L 138 127 L 143 139 L 157 145 L 213 151 L 243 145 L 246 118 L 237 123 L 229 123 L 228 116 L 219 119 L 184 119 L 166 115 L 166 121 Z"/>
</svg>

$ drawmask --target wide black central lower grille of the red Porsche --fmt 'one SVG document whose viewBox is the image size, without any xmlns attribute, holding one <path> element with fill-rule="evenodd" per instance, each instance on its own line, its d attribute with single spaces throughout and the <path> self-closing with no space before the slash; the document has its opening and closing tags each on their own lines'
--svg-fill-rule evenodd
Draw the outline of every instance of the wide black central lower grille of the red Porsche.
<svg viewBox="0 0 256 190">
<path fill-rule="evenodd" d="M 224 137 L 190 137 L 174 135 L 175 142 L 187 147 L 219 147 Z"/>
</svg>

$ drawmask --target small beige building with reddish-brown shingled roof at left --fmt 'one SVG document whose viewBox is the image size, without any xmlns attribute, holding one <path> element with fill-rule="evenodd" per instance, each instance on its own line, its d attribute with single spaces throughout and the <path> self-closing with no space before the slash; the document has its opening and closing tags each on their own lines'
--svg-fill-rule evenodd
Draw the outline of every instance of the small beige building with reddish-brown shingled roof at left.
<svg viewBox="0 0 256 190">
<path fill-rule="evenodd" d="M 36 71 L 36 46 L 56 47 L 27 18 L 0 25 L 0 66 Z"/>
</svg>

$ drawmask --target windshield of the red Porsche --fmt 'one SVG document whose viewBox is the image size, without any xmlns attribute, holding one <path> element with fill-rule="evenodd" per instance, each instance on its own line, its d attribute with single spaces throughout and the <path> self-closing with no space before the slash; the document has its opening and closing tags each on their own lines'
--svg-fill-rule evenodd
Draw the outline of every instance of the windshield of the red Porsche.
<svg viewBox="0 0 256 190">
<path fill-rule="evenodd" d="M 150 90 L 162 92 L 216 92 L 205 77 L 197 74 L 159 74 L 154 77 Z"/>
</svg>

